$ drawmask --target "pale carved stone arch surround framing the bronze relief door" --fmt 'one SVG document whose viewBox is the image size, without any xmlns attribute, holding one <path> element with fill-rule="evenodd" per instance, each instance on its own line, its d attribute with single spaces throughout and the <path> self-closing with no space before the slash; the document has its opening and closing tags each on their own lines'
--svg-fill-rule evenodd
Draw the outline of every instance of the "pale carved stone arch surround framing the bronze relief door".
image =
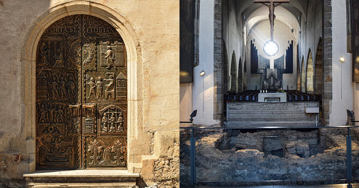
<svg viewBox="0 0 359 188">
<path fill-rule="evenodd" d="M 36 54 L 37 44 L 43 32 L 48 26 L 55 21 L 64 18 L 65 16 L 85 14 L 96 16 L 110 25 L 112 25 L 117 32 L 121 35 L 127 50 L 127 69 L 128 69 L 128 94 L 127 94 L 127 105 L 128 114 L 136 114 L 128 116 L 128 136 L 137 138 L 137 130 L 140 130 L 143 125 L 143 118 L 140 116 L 143 111 L 143 68 L 141 61 L 141 47 L 139 39 L 136 36 L 134 29 L 130 22 L 116 11 L 108 8 L 107 6 L 91 3 L 88 1 L 71 1 L 69 3 L 63 3 L 58 6 L 52 7 L 36 20 L 27 28 L 23 37 L 23 46 L 21 48 L 20 63 L 21 63 L 21 94 L 20 102 L 23 105 L 21 114 L 22 116 L 22 132 L 21 137 L 27 140 L 27 154 L 29 157 L 28 169 L 25 172 L 34 172 L 36 169 L 36 156 L 35 156 L 35 114 L 36 114 Z M 129 148 L 136 145 L 136 139 L 131 139 L 128 142 Z M 133 155 L 131 150 L 127 153 Z M 147 155 L 147 154 L 144 154 Z M 127 169 L 129 172 L 133 172 L 134 163 L 128 163 Z"/>
</svg>

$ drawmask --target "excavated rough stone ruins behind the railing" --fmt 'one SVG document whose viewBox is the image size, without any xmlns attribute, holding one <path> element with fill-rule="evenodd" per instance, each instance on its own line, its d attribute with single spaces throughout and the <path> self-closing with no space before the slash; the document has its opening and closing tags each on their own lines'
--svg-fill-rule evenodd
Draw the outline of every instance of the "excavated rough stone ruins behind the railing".
<svg viewBox="0 0 359 188">
<path fill-rule="evenodd" d="M 350 130 L 355 183 L 359 130 Z M 189 185 L 190 180 L 190 131 L 180 132 L 180 185 Z M 346 135 L 341 128 L 197 129 L 196 182 L 222 186 L 346 183 Z"/>
</svg>

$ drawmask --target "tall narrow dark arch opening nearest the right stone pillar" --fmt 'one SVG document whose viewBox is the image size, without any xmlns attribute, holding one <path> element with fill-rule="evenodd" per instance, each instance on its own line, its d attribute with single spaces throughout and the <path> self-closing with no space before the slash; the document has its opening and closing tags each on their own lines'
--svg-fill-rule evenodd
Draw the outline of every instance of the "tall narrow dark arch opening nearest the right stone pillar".
<svg viewBox="0 0 359 188">
<path fill-rule="evenodd" d="M 322 73 L 322 38 L 319 38 L 317 53 L 314 64 L 314 92 L 317 95 L 323 93 L 323 73 Z"/>
</svg>

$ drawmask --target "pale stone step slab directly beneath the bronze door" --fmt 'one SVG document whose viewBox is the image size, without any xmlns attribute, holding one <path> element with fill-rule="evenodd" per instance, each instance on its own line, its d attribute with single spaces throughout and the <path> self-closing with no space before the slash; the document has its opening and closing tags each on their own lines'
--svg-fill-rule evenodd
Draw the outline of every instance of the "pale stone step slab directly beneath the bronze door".
<svg viewBox="0 0 359 188">
<path fill-rule="evenodd" d="M 23 177 L 140 177 L 138 173 L 127 170 L 86 169 L 86 170 L 36 170 L 34 173 L 24 174 Z"/>
</svg>

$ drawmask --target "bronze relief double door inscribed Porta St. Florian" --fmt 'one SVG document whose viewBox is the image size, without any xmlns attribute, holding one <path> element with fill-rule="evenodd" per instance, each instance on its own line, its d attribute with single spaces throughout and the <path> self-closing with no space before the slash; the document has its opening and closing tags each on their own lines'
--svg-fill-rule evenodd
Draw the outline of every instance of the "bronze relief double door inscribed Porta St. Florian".
<svg viewBox="0 0 359 188">
<path fill-rule="evenodd" d="M 66 16 L 39 40 L 37 169 L 127 167 L 127 63 L 106 21 Z"/>
</svg>

